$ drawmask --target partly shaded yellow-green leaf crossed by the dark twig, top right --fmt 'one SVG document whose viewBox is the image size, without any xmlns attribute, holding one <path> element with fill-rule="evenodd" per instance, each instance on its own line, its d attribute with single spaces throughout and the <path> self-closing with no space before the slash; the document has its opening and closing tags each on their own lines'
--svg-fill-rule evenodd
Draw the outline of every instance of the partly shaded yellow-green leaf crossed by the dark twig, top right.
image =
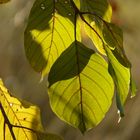
<svg viewBox="0 0 140 140">
<path fill-rule="evenodd" d="M 85 18 L 85 31 L 93 41 L 95 47 L 102 54 L 105 54 L 103 48 L 103 21 L 110 22 L 112 9 L 107 0 L 83 0 L 81 11 Z"/>
</svg>

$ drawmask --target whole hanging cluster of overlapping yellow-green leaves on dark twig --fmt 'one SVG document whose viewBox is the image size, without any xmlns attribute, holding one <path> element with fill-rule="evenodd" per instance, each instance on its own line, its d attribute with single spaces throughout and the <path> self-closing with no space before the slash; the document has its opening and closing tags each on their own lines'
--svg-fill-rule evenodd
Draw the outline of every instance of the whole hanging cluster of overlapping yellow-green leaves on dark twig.
<svg viewBox="0 0 140 140">
<path fill-rule="evenodd" d="M 117 106 L 124 115 L 131 65 L 124 53 L 122 31 L 110 23 L 111 16 L 107 0 L 36 0 L 25 31 L 25 50 L 32 67 L 43 76 L 51 69 L 53 111 L 82 132 L 103 119 L 112 102 L 114 83 Z M 107 55 L 112 77 L 104 58 L 80 43 L 80 25 L 98 51 Z"/>
</svg>

